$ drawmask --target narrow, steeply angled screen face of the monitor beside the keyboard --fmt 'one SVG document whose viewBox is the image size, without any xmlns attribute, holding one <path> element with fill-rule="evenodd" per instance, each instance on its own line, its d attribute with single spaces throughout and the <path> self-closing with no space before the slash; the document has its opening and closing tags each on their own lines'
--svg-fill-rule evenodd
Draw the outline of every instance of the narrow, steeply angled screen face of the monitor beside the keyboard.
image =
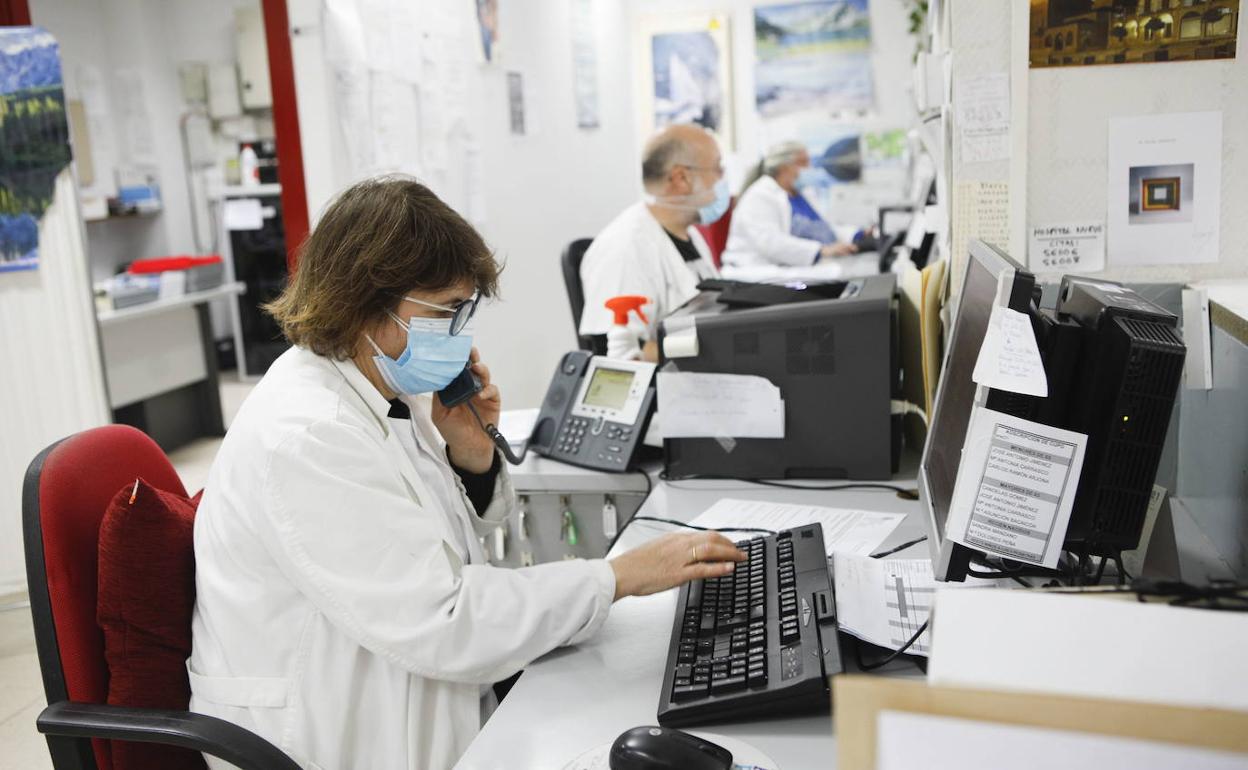
<svg viewBox="0 0 1248 770">
<path fill-rule="evenodd" d="M 978 242 L 972 245 L 919 468 L 920 488 L 934 528 L 934 553 L 943 545 L 945 520 L 975 404 L 976 384 L 971 372 L 980 356 L 980 343 L 988 331 L 988 316 L 997 302 L 998 278 L 1015 270 L 1016 266 L 1005 255 Z M 937 577 L 941 577 L 938 564 Z"/>
</svg>

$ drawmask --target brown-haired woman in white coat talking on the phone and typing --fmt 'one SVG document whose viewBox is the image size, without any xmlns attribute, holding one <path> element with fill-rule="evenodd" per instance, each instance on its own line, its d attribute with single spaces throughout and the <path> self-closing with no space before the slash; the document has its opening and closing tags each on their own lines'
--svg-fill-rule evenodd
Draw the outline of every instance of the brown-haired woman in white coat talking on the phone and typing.
<svg viewBox="0 0 1248 770">
<path fill-rule="evenodd" d="M 474 406 L 498 419 L 464 326 L 497 281 L 475 231 L 416 181 L 362 182 L 326 210 L 270 307 L 295 347 L 230 427 L 195 522 L 191 710 L 305 768 L 449 768 L 490 683 L 587 639 L 622 597 L 741 558 L 673 534 L 612 562 L 487 564 L 478 537 L 512 484 L 472 413 L 431 393 L 470 357 Z"/>
</svg>

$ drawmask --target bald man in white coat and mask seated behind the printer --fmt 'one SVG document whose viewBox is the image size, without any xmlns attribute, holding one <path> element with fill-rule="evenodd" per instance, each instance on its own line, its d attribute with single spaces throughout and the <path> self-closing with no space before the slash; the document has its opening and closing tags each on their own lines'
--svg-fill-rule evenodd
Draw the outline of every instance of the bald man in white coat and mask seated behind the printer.
<svg viewBox="0 0 1248 770">
<path fill-rule="evenodd" d="M 641 183 L 644 200 L 612 220 L 580 263 L 580 333 L 610 329 L 614 317 L 604 303 L 612 297 L 646 297 L 643 357 L 658 361 L 659 322 L 698 296 L 699 281 L 716 275 L 693 226 L 724 216 L 730 196 L 719 145 L 699 126 L 668 126 L 646 142 Z"/>
</svg>

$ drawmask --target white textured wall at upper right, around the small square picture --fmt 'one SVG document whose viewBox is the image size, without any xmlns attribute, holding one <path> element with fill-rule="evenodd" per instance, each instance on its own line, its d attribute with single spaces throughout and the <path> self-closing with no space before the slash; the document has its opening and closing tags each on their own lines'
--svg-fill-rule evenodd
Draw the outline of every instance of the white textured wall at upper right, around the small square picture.
<svg viewBox="0 0 1248 770">
<path fill-rule="evenodd" d="M 1128 282 L 1248 275 L 1248 217 L 1243 216 L 1248 207 L 1248 20 L 1243 12 L 1236 59 L 1037 70 L 1027 67 L 1027 4 L 953 0 L 950 12 L 955 89 L 963 75 L 1012 74 L 1013 157 L 1008 163 L 957 165 L 953 181 L 1012 181 L 1010 247 L 1020 261 L 1026 260 L 1026 226 L 1104 221 L 1111 117 L 1219 110 L 1221 260 L 1149 267 L 1111 262 L 1101 275 Z"/>
</svg>

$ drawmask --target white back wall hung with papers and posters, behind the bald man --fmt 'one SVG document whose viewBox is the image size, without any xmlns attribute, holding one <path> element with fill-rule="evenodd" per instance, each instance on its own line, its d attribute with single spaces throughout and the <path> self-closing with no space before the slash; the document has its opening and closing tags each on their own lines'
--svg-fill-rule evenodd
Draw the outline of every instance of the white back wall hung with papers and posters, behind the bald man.
<svg viewBox="0 0 1248 770">
<path fill-rule="evenodd" d="M 436 1 L 464 5 L 459 0 Z M 560 251 L 574 238 L 595 235 L 641 192 L 640 149 L 645 137 L 638 131 L 633 91 L 638 20 L 643 15 L 696 10 L 731 14 L 738 142 L 728 160 L 735 182 L 749 163 L 758 161 L 763 144 L 753 107 L 753 4 L 597 0 L 600 126 L 588 131 L 577 129 L 573 105 L 572 1 L 524 0 L 499 6 L 500 57 L 490 65 L 473 65 L 468 79 L 469 126 L 480 144 L 485 170 L 487 216 L 479 228 L 507 262 L 502 301 L 478 317 L 477 341 L 503 386 L 504 403 L 529 407 L 540 402 L 559 356 L 575 346 L 559 271 Z M 313 221 L 328 198 L 352 181 L 337 120 L 339 105 L 324 60 L 327 21 L 322 9 L 322 0 L 290 0 L 303 167 Z M 906 34 L 904 6 L 901 0 L 874 0 L 871 12 L 879 107 L 850 125 L 909 127 L 914 42 Z M 367 16 L 363 22 L 368 22 Z M 507 71 L 522 72 L 528 86 L 530 122 L 537 126 L 528 136 L 509 134 Z M 434 190 L 452 205 L 462 203 L 462 190 Z"/>
</svg>

